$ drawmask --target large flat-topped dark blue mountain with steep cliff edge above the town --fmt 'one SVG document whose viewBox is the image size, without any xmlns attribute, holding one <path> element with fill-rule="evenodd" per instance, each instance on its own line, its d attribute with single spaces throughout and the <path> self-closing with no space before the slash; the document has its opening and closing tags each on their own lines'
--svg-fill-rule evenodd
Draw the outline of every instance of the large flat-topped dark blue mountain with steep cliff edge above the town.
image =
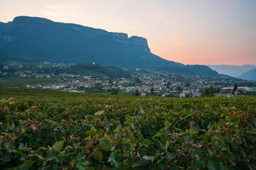
<svg viewBox="0 0 256 170">
<path fill-rule="evenodd" d="M 28 16 L 0 23 L 0 47 L 11 55 L 46 62 L 127 68 L 183 65 L 152 54 L 145 38 Z"/>
</svg>

